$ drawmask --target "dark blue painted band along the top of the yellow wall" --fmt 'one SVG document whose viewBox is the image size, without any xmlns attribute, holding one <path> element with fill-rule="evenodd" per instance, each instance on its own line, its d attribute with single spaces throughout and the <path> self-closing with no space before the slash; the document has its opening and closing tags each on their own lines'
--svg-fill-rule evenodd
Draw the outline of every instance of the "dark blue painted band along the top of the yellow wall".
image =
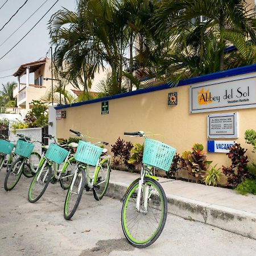
<svg viewBox="0 0 256 256">
<path fill-rule="evenodd" d="M 233 69 L 220 71 L 220 72 L 216 72 L 216 73 L 210 73 L 210 74 L 203 75 L 203 76 L 191 77 L 189 79 L 180 80 L 179 84 L 177 86 L 196 84 L 197 82 L 205 82 L 205 81 L 210 81 L 210 80 L 215 80 L 215 79 L 221 79 L 224 77 L 243 75 L 243 74 L 251 73 L 251 72 L 256 72 L 256 64 L 247 65 L 247 66 L 240 67 L 240 68 L 233 68 Z M 161 84 L 161 85 L 152 86 L 152 87 L 148 87 L 148 88 L 144 88 L 144 89 L 134 90 L 133 92 L 120 93 L 120 94 L 115 94 L 113 96 L 108 96 L 108 97 L 104 97 L 104 98 L 96 98 L 94 100 L 82 101 L 82 102 L 77 102 L 77 103 L 68 104 L 68 105 L 56 106 L 55 109 L 65 109 L 65 108 L 71 108 L 74 106 L 92 104 L 95 102 L 109 101 L 109 100 L 114 100 L 117 98 L 124 98 L 124 97 L 142 94 L 142 93 L 149 93 L 149 92 L 155 92 L 157 90 L 169 89 L 170 87 L 171 87 L 171 83 Z"/>
</svg>

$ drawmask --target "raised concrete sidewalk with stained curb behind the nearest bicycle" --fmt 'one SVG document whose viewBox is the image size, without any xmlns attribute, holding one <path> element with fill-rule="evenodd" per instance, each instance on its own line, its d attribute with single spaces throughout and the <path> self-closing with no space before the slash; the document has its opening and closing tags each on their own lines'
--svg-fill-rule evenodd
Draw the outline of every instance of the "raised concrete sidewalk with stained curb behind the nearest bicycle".
<svg viewBox="0 0 256 256">
<path fill-rule="evenodd" d="M 121 199 L 138 174 L 113 170 L 107 195 Z M 159 177 L 168 199 L 168 212 L 256 239 L 256 196 Z"/>
</svg>

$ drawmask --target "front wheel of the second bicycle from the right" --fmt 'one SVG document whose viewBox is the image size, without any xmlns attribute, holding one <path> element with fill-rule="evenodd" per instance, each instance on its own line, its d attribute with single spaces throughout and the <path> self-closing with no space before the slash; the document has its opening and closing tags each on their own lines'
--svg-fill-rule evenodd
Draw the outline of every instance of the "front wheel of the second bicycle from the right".
<svg viewBox="0 0 256 256">
<path fill-rule="evenodd" d="M 75 176 L 73 176 L 73 179 L 75 178 Z M 80 180 L 79 180 L 80 178 Z M 68 189 L 68 193 L 65 199 L 65 204 L 64 204 L 64 218 L 65 220 L 70 220 L 73 215 L 75 214 L 77 208 L 79 207 L 79 203 L 80 200 L 82 198 L 82 192 L 84 192 L 84 186 L 85 186 L 85 181 L 86 181 L 86 177 L 85 177 L 85 170 L 83 168 L 79 168 L 79 170 L 77 171 L 77 175 L 76 175 L 76 180 L 72 179 L 72 183 L 73 186 L 71 185 Z M 80 185 L 81 183 L 81 185 Z M 75 191 L 74 186 L 75 185 L 80 185 L 80 191 L 73 192 L 71 191 L 71 189 L 73 189 Z M 71 199 L 71 195 L 75 195 L 75 193 L 77 194 L 77 198 L 75 201 L 75 205 L 72 207 L 71 205 L 71 209 L 68 210 L 69 207 L 69 203 L 71 203 L 72 199 Z"/>
</svg>

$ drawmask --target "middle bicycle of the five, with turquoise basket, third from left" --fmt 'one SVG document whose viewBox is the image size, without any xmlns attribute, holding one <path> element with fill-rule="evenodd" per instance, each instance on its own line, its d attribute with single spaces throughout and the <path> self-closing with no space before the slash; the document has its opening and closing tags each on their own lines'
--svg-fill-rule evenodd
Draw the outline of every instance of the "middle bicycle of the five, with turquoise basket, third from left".
<svg viewBox="0 0 256 256">
<path fill-rule="evenodd" d="M 36 174 L 28 189 L 30 203 L 35 203 L 43 196 L 50 182 L 55 184 L 59 181 L 61 188 L 68 189 L 73 177 L 73 165 L 76 164 L 71 150 L 77 147 L 77 143 L 72 142 L 60 146 L 52 135 L 43 134 L 43 136 L 53 139 L 54 142 L 43 150 Z M 69 150 L 63 147 L 68 147 Z"/>
</svg>

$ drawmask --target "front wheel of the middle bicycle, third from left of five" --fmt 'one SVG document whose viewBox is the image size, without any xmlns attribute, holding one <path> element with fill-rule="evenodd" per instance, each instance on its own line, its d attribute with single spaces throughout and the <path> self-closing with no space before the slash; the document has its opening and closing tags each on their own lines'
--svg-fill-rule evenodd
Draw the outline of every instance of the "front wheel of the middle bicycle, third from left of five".
<svg viewBox="0 0 256 256">
<path fill-rule="evenodd" d="M 35 203 L 43 196 L 51 181 L 52 168 L 49 164 L 39 168 L 28 189 L 28 201 Z"/>
</svg>

